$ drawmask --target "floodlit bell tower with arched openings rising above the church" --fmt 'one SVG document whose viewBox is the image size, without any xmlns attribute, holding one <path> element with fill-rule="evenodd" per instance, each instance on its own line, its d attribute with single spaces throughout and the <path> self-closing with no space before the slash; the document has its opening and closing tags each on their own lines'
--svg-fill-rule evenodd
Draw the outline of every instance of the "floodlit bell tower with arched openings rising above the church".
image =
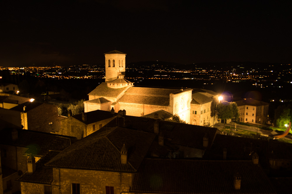
<svg viewBox="0 0 292 194">
<path fill-rule="evenodd" d="M 117 50 L 105 53 L 105 82 L 118 78 L 119 74 L 125 75 L 126 54 Z"/>
</svg>

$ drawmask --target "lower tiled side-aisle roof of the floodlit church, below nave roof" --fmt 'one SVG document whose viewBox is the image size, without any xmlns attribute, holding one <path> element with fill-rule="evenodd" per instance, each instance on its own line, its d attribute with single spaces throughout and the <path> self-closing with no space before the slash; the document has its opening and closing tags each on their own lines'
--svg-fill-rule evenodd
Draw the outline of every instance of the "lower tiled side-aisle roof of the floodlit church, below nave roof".
<svg viewBox="0 0 292 194">
<path fill-rule="evenodd" d="M 164 96 L 124 94 L 118 100 L 118 102 L 169 106 L 169 96 L 164 97 Z"/>
</svg>

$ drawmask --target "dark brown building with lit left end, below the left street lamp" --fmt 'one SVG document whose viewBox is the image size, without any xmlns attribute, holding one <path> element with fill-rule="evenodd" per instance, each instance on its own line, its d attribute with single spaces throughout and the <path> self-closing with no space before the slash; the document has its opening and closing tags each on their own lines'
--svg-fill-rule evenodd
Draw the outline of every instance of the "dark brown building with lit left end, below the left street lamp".
<svg viewBox="0 0 292 194">
<path fill-rule="evenodd" d="M 11 110 L 18 111 L 23 129 L 55 132 L 59 129 L 58 106 L 41 102 L 25 102 L 13 107 Z"/>
</svg>

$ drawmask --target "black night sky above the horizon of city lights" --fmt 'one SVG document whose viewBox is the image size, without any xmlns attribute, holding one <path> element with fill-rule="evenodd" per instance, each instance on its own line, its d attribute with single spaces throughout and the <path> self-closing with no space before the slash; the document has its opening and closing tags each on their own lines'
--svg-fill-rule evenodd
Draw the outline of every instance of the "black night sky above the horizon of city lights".
<svg viewBox="0 0 292 194">
<path fill-rule="evenodd" d="M 0 66 L 292 61 L 291 1 L 0 2 Z"/>
</svg>

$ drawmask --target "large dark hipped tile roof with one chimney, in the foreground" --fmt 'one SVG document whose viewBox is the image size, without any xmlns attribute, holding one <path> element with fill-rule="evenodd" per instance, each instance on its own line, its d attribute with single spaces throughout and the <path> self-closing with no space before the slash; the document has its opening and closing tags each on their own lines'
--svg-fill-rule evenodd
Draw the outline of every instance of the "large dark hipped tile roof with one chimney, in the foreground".
<svg viewBox="0 0 292 194">
<path fill-rule="evenodd" d="M 103 127 L 68 147 L 47 167 L 135 172 L 149 150 L 155 134 L 117 127 Z M 128 162 L 121 164 L 121 148 L 128 148 Z"/>
</svg>

